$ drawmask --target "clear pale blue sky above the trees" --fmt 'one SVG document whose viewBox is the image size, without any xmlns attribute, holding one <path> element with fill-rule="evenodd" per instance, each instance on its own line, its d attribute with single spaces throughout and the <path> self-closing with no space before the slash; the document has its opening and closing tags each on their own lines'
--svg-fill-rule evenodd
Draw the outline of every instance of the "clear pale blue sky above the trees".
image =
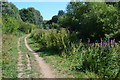
<svg viewBox="0 0 120 80">
<path fill-rule="evenodd" d="M 12 2 L 20 10 L 34 7 L 39 10 L 44 20 L 50 20 L 59 10 L 66 10 L 68 2 Z"/>
</svg>

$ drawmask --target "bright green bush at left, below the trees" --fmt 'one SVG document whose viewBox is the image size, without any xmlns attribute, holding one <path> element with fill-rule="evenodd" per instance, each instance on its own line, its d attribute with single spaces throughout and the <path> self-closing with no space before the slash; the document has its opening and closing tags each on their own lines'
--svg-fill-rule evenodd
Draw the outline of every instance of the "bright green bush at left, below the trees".
<svg viewBox="0 0 120 80">
<path fill-rule="evenodd" d="M 20 31 L 24 33 L 30 33 L 33 29 L 36 28 L 34 24 L 18 21 L 15 18 L 9 16 L 4 16 L 2 18 L 2 22 L 3 22 L 2 30 L 5 33 L 17 34 Z"/>
</svg>

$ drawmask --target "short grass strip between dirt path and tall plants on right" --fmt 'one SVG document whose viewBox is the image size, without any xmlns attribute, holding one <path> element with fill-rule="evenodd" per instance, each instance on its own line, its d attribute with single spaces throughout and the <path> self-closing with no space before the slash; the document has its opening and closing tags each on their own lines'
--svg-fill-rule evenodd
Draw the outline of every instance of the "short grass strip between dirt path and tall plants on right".
<svg viewBox="0 0 120 80">
<path fill-rule="evenodd" d="M 39 49 L 39 45 L 32 41 L 31 38 L 28 38 L 28 43 L 30 47 L 36 51 L 40 56 L 44 58 L 44 60 L 55 69 L 58 73 L 57 77 L 60 78 L 98 78 L 96 74 L 92 72 L 77 72 L 71 70 L 71 64 L 73 64 L 70 60 L 60 57 L 59 55 L 54 54 L 49 50 L 41 51 Z"/>
</svg>

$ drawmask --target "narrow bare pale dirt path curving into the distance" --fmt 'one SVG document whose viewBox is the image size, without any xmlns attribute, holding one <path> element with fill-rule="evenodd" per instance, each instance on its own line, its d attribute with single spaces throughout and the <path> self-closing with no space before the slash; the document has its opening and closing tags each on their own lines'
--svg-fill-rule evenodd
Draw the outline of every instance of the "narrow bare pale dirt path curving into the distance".
<svg viewBox="0 0 120 80">
<path fill-rule="evenodd" d="M 29 34 L 30 35 L 30 34 Z M 27 47 L 27 49 L 35 56 L 35 60 L 38 63 L 38 66 L 40 67 L 40 72 L 42 73 L 42 77 L 43 78 L 55 78 L 55 73 L 50 69 L 50 67 L 45 63 L 45 61 L 43 60 L 42 57 L 40 57 L 37 53 L 35 53 L 28 45 L 27 42 L 27 37 L 29 37 L 29 35 L 27 35 L 24 38 L 25 41 L 25 46 Z"/>
</svg>

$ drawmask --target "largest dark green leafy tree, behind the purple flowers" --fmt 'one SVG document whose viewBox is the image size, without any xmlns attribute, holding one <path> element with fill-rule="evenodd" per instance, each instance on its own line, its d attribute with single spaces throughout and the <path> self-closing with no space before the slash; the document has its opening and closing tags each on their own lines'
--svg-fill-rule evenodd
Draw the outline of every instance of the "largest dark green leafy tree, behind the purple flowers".
<svg viewBox="0 0 120 80">
<path fill-rule="evenodd" d="M 116 7 L 104 2 L 70 2 L 59 22 L 70 31 L 79 32 L 80 38 L 99 39 L 118 30 L 117 13 Z"/>
</svg>

